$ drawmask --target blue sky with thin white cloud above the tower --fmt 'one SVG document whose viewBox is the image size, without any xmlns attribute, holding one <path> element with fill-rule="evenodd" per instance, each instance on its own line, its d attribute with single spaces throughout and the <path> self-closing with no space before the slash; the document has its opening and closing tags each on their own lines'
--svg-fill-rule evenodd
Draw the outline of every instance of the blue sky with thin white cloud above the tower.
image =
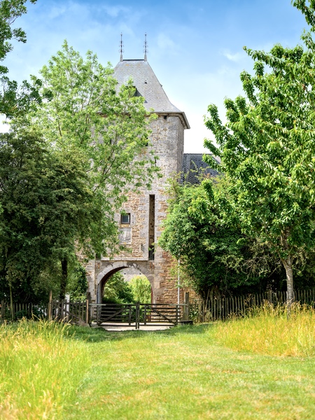
<svg viewBox="0 0 315 420">
<path fill-rule="evenodd" d="M 27 31 L 27 43 L 15 43 L 4 63 L 15 80 L 37 74 L 64 39 L 115 66 L 123 32 L 123 57 L 141 59 L 147 33 L 148 62 L 190 123 L 186 153 L 204 152 L 203 139 L 211 138 L 203 125 L 207 106 L 218 105 L 224 120 L 224 98 L 241 94 L 239 73 L 252 69 L 243 46 L 292 47 L 306 27 L 290 0 L 38 0 L 16 25 Z"/>
</svg>

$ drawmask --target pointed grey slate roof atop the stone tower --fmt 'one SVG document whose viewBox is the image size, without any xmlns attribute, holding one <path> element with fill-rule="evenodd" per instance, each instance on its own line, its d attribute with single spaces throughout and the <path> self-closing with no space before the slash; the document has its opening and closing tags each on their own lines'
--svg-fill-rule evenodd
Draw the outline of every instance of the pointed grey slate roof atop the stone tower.
<svg viewBox="0 0 315 420">
<path fill-rule="evenodd" d="M 185 128 L 190 128 L 188 120 L 183 111 L 169 102 L 158 78 L 145 59 L 123 59 L 114 69 L 114 77 L 118 80 L 118 88 L 132 78 L 137 94 L 144 97 L 144 106 L 149 111 L 154 109 L 155 113 L 176 114 L 183 118 Z"/>
</svg>

